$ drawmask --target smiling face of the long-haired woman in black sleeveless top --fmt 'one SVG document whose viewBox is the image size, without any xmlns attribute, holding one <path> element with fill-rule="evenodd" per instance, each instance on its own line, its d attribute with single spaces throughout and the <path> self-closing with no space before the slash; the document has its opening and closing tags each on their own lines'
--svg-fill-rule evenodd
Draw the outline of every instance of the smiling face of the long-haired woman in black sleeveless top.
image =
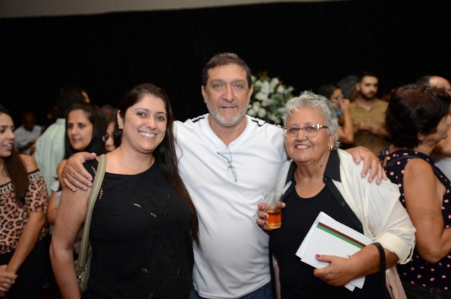
<svg viewBox="0 0 451 299">
<path fill-rule="evenodd" d="M 163 99 L 145 94 L 121 117 L 118 111 L 119 128 L 123 129 L 121 146 L 130 146 L 138 152 L 154 152 L 166 134 L 168 118 Z"/>
</svg>

